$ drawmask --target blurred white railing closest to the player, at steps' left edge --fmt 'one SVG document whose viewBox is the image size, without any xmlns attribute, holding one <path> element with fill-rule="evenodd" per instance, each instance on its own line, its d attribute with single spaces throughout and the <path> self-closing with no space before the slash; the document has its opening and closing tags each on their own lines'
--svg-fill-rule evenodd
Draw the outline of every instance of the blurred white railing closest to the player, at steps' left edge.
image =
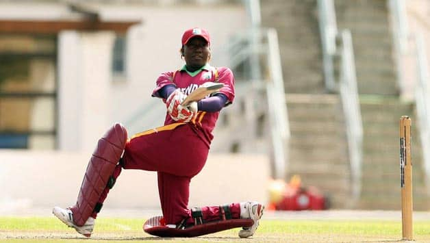
<svg viewBox="0 0 430 243">
<path fill-rule="evenodd" d="M 264 90 L 266 93 L 270 153 L 274 166 L 273 177 L 286 179 L 290 125 L 288 123 L 277 32 L 271 28 L 253 28 L 249 31 L 240 32 L 231 41 L 229 53 L 231 55 L 229 66 L 232 69 L 247 63 L 246 70 L 249 71 L 249 77 L 244 80 L 244 84 L 240 85 L 251 87 L 253 90 Z M 268 75 L 256 73 L 255 70 L 264 70 Z"/>
</svg>

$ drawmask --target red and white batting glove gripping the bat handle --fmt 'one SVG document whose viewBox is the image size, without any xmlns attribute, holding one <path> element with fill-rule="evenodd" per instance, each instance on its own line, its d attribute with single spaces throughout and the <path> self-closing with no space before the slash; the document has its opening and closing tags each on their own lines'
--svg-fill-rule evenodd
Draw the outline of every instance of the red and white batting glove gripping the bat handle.
<svg viewBox="0 0 430 243">
<path fill-rule="evenodd" d="M 178 123 L 188 123 L 197 116 L 197 109 L 190 109 L 188 106 L 181 105 L 187 95 L 176 89 L 166 99 L 167 112 L 170 117 Z M 197 107 L 196 107 L 197 108 Z"/>
</svg>

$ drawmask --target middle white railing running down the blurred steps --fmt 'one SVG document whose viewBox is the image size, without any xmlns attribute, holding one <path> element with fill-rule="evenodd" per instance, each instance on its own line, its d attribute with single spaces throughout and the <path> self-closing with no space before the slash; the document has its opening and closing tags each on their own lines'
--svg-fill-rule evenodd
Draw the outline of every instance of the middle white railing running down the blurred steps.
<svg viewBox="0 0 430 243">
<path fill-rule="evenodd" d="M 348 139 L 351 191 L 355 203 L 362 190 L 363 127 L 351 32 L 348 29 L 338 31 L 333 0 L 318 0 L 318 11 L 325 84 L 327 91 L 340 93 Z M 336 44 L 337 40 L 340 42 L 339 47 Z M 336 57 L 340 57 L 338 82 L 333 65 Z"/>
</svg>

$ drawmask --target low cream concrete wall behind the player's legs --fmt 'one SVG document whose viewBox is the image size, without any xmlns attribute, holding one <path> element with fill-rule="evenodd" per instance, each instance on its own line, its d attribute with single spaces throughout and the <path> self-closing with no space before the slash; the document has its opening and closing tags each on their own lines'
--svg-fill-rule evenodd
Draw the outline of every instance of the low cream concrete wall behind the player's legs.
<svg viewBox="0 0 430 243">
<path fill-rule="evenodd" d="M 76 202 L 90 153 L 0 151 L 0 213 Z M 192 179 L 190 206 L 267 201 L 268 158 L 210 154 Z M 109 208 L 160 208 L 155 172 L 123 170 L 105 201 Z"/>
</svg>

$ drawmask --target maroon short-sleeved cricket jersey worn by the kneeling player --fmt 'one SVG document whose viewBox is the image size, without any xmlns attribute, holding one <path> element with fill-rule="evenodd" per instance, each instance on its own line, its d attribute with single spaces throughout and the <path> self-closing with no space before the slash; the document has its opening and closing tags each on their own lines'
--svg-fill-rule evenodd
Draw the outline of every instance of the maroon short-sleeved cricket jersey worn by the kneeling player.
<svg viewBox="0 0 430 243">
<path fill-rule="evenodd" d="M 185 68 L 181 68 L 179 71 L 162 73 L 157 79 L 157 87 L 153 91 L 153 97 L 160 97 L 158 90 L 168 84 L 175 84 L 177 88 L 180 88 L 184 94 L 190 94 L 196 88 L 199 88 L 202 84 L 207 81 L 213 81 L 223 83 L 224 87 L 219 90 L 220 93 L 225 94 L 227 97 L 227 104 L 233 102 L 234 99 L 234 77 L 231 70 L 227 67 L 214 68 L 209 64 L 206 64 L 201 68 L 200 71 L 194 73 L 188 73 Z M 212 138 L 212 131 L 218 120 L 219 112 L 197 112 L 197 116 L 190 122 L 194 125 L 194 129 L 201 131 L 201 138 L 209 146 Z M 173 120 L 168 113 L 166 113 L 166 120 L 164 125 L 177 123 Z"/>
</svg>

